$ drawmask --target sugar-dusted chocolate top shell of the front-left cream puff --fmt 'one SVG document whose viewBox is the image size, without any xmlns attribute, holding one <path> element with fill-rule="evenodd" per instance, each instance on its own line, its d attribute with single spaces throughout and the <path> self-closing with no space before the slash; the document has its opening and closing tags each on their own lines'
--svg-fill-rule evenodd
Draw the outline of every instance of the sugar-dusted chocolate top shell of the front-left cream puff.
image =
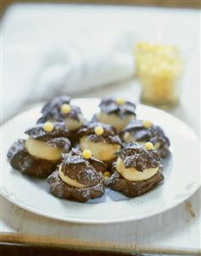
<svg viewBox="0 0 201 256">
<path fill-rule="evenodd" d="M 91 164 L 94 158 L 86 159 L 82 157 L 82 152 L 72 149 L 67 154 L 62 154 L 62 173 L 64 176 L 80 182 L 87 187 L 94 186 L 101 181 L 102 175 L 99 170 Z"/>
</svg>

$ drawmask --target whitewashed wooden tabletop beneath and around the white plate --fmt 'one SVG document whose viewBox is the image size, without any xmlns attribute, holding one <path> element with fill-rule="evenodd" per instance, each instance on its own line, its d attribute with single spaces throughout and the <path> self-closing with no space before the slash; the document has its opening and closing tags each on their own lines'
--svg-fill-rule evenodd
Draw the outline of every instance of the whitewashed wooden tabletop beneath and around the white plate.
<svg viewBox="0 0 201 256">
<path fill-rule="evenodd" d="M 186 86 L 180 106 L 170 112 L 186 121 L 198 134 L 198 91 L 191 89 L 193 101 L 189 106 L 189 90 Z M 121 95 L 139 100 L 136 81 L 106 86 L 98 91 L 86 92 L 82 97 Z M 188 101 L 187 101 L 188 99 Z M 139 253 L 178 253 L 199 255 L 200 245 L 200 198 L 201 189 L 186 202 L 155 217 L 129 223 L 76 224 L 64 223 L 37 216 L 11 204 L 1 197 L 1 239 L 27 241 L 60 246 L 102 247 Z M 6 235 L 12 232 L 13 235 Z M 190 252 L 190 253 L 189 253 Z"/>
</svg>

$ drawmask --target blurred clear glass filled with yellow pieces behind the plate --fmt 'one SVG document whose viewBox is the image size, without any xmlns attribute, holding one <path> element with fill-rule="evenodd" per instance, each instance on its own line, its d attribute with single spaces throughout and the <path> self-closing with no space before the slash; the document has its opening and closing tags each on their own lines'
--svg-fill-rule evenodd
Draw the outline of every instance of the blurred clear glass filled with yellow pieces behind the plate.
<svg viewBox="0 0 201 256">
<path fill-rule="evenodd" d="M 163 109 L 178 104 L 183 60 L 177 46 L 141 42 L 134 55 L 141 102 Z"/>
</svg>

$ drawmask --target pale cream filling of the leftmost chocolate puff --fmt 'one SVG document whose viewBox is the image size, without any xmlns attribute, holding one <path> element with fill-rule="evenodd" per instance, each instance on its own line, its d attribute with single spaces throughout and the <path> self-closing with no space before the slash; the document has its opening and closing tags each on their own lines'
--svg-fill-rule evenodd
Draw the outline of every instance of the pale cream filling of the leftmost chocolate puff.
<svg viewBox="0 0 201 256">
<path fill-rule="evenodd" d="M 62 149 L 48 146 L 44 141 L 28 138 L 25 142 L 27 152 L 35 158 L 42 158 L 50 161 L 59 160 L 61 158 Z"/>
</svg>

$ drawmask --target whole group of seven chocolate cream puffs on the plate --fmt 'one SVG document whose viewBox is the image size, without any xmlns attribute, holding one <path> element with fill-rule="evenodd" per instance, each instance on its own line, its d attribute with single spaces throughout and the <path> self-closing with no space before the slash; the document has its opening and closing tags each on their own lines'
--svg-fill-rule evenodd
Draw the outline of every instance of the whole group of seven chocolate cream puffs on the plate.
<svg viewBox="0 0 201 256">
<path fill-rule="evenodd" d="M 99 108 L 86 120 L 70 97 L 53 98 L 25 131 L 27 140 L 10 146 L 10 165 L 45 178 L 59 199 L 84 203 L 109 189 L 128 198 L 151 191 L 164 180 L 169 140 L 163 128 L 139 120 L 136 105 L 123 98 L 103 98 Z"/>
</svg>

